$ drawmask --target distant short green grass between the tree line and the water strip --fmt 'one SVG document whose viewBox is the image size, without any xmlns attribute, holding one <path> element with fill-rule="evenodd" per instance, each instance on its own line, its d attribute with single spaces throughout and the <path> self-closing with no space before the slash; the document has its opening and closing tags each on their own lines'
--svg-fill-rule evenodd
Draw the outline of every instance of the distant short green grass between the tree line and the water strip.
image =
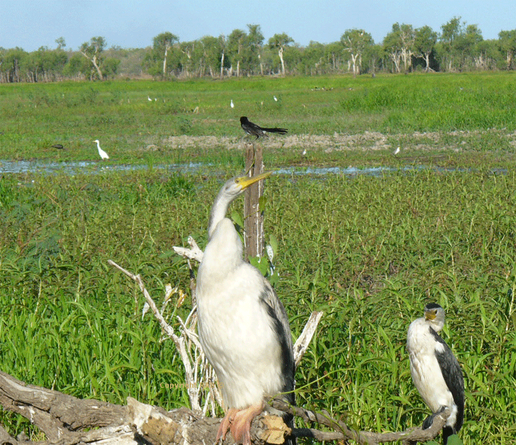
<svg viewBox="0 0 516 445">
<path fill-rule="evenodd" d="M 364 162 L 392 163 L 396 144 L 416 153 L 414 131 L 439 132 L 431 151 L 460 149 L 462 158 L 477 164 L 477 154 L 464 155 L 468 145 L 454 131 L 488 132 L 476 143 L 488 162 L 514 147 L 507 136 L 516 130 L 512 73 L 413 74 L 410 76 L 322 76 L 315 78 L 250 78 L 178 82 L 112 81 L 0 85 L 0 158 L 97 160 L 99 139 L 114 162 L 171 164 L 205 162 L 236 164 L 239 153 L 225 150 L 223 136 L 237 141 L 243 135 L 239 116 L 266 125 L 288 127 L 292 135 L 387 135 L 390 148 L 369 151 Z M 275 102 L 272 96 L 279 100 Z M 156 101 L 147 100 L 147 96 Z M 230 109 L 233 99 L 235 109 Z M 189 149 L 173 148 L 169 136 L 215 135 L 219 140 Z M 462 138 L 467 135 L 463 135 Z M 422 138 L 422 137 L 420 137 Z M 444 140 L 443 138 L 449 138 Z M 283 141 L 285 138 L 272 138 Z M 423 138 L 424 139 L 424 138 Z M 428 139 L 428 138 L 427 138 Z M 474 138 L 472 138 L 474 139 Z M 50 148 L 56 142 L 67 151 Z M 425 141 L 423 141 L 425 142 Z M 442 143 L 450 142 L 444 147 Z M 310 150 L 299 159 L 299 144 L 270 149 L 273 165 L 356 162 L 356 153 Z M 330 147 L 331 148 L 331 147 Z M 352 148 L 367 148 L 361 142 Z M 432 159 L 425 160 L 432 162 Z M 438 162 L 443 162 L 438 160 Z M 446 161 L 444 161 L 446 162 Z"/>
</svg>

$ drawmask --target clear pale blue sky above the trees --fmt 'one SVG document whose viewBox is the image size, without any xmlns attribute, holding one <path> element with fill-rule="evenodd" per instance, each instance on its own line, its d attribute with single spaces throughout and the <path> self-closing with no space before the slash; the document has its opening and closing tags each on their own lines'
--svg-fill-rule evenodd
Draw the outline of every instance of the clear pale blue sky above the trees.
<svg viewBox="0 0 516 445">
<path fill-rule="evenodd" d="M 94 36 L 105 37 L 108 47 L 147 47 L 165 31 L 191 41 L 247 30 L 248 23 L 261 25 L 266 40 L 286 32 L 301 45 L 330 43 L 361 28 L 381 43 L 393 23 L 440 32 L 453 17 L 497 39 L 501 30 L 516 29 L 514 7 L 513 0 L 0 0 L 0 47 L 55 48 L 64 37 L 67 49 L 76 50 Z"/>
</svg>

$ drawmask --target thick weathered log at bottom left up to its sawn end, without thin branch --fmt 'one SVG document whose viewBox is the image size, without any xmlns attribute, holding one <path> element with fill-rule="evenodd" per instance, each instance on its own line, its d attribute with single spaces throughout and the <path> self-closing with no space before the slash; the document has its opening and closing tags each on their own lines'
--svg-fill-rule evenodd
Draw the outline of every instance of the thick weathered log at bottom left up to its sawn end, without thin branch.
<svg viewBox="0 0 516 445">
<path fill-rule="evenodd" d="M 164 411 L 127 398 L 127 406 L 100 400 L 80 400 L 70 395 L 34 385 L 28 385 L 0 372 L 0 403 L 4 409 L 27 417 L 38 426 L 47 439 L 40 445 L 79 445 L 87 443 L 136 445 L 151 442 L 163 445 L 205 445 L 215 442 L 220 420 L 203 417 L 186 408 Z M 90 429 L 93 428 L 93 429 Z M 89 431 L 85 431 L 89 429 Z M 251 429 L 255 444 L 284 442 L 290 434 L 281 417 L 261 415 Z M 271 438 L 281 440 L 271 442 Z M 144 439 L 144 440 L 142 440 Z M 21 445 L 0 428 L 0 443 Z M 227 445 L 233 439 L 228 435 Z"/>
</svg>

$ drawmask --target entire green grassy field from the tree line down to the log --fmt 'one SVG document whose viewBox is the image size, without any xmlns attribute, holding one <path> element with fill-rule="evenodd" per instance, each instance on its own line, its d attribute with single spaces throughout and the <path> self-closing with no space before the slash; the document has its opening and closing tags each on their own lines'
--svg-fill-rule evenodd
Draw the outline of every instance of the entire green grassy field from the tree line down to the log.
<svg viewBox="0 0 516 445">
<path fill-rule="evenodd" d="M 266 232 L 279 241 L 276 289 L 294 336 L 312 310 L 325 312 L 297 370 L 297 402 L 365 430 L 420 424 L 428 410 L 411 383 L 405 341 L 409 323 L 435 301 L 447 311 L 443 336 L 464 369 L 464 444 L 513 444 L 512 80 L 471 74 L 0 85 L 1 159 L 95 160 L 89 141 L 99 138 L 106 151 L 110 144 L 115 149 L 103 166 L 149 166 L 1 177 L 2 371 L 80 398 L 125 403 L 131 395 L 166 409 L 188 403 L 186 391 L 160 385 L 182 382 L 172 343 L 160 342 L 151 316 L 142 320 L 139 290 L 107 260 L 142 274 L 158 298 L 166 283 L 189 292 L 186 264 L 172 246 L 192 235 L 204 248 L 213 199 L 243 161 L 238 149 L 219 153 L 215 144 L 177 153 L 160 141 L 182 134 L 239 138 L 241 111 L 230 109 L 233 98 L 237 107 L 247 100 L 246 114 L 257 122 L 287 122 L 291 133 L 381 132 L 391 146 L 404 147 L 400 159 L 391 147 L 314 148 L 310 165 L 352 160 L 457 168 L 268 180 Z M 464 91 L 469 98 L 459 102 Z M 161 102 L 149 102 L 147 94 Z M 488 99 L 492 95 L 496 101 Z M 171 104 L 177 108 L 166 111 Z M 444 149 L 436 142 L 443 140 Z M 48 148 L 63 141 L 67 151 Z M 147 144 L 161 151 L 146 151 Z M 266 151 L 266 164 L 299 165 L 298 152 Z M 213 166 L 189 175 L 152 168 L 178 159 Z M 504 171 L 493 173 L 493 167 Z M 241 199 L 233 204 L 241 207 Z M 189 306 L 186 301 L 178 312 L 188 313 Z M 13 434 L 29 428 L 8 413 L 2 423 Z"/>
</svg>

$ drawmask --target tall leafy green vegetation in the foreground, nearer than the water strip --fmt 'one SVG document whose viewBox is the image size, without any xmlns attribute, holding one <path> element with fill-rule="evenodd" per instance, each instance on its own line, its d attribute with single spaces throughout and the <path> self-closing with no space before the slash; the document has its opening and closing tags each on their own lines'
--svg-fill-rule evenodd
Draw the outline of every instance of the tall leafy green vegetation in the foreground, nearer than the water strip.
<svg viewBox="0 0 516 445">
<path fill-rule="evenodd" d="M 3 371 L 81 398 L 187 404 L 162 385 L 182 382 L 172 343 L 141 319 L 139 290 L 107 259 L 142 274 L 158 298 L 166 283 L 187 292 L 171 246 L 193 235 L 204 247 L 220 184 L 161 172 L 3 177 Z M 297 370 L 298 403 L 361 429 L 420 424 L 428 410 L 405 340 L 436 301 L 464 369 L 464 443 L 513 442 L 515 190 L 514 173 L 272 177 L 266 226 L 294 336 L 312 310 L 325 312 Z"/>
</svg>

